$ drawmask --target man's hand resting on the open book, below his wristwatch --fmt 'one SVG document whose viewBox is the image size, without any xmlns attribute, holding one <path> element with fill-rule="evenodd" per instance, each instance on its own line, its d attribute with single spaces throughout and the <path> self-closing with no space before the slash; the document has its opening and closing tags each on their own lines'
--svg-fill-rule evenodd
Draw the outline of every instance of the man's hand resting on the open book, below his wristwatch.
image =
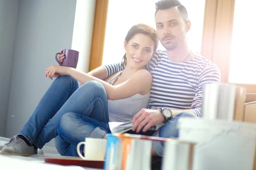
<svg viewBox="0 0 256 170">
<path fill-rule="evenodd" d="M 143 126 L 143 132 L 147 131 L 149 127 L 159 125 L 163 122 L 163 115 L 159 110 L 141 109 L 132 120 L 132 130 L 137 133 L 140 132 Z"/>
</svg>

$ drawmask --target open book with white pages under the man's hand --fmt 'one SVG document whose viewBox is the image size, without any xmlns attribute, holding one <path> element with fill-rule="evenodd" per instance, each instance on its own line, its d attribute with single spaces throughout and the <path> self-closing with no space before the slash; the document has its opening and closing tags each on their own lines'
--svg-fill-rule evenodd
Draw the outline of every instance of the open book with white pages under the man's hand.
<svg viewBox="0 0 256 170">
<path fill-rule="evenodd" d="M 132 128 L 132 121 L 129 122 L 108 122 L 111 133 L 124 133 Z M 158 130 L 164 124 L 150 127 L 148 130 Z M 143 128 L 142 128 L 143 129 Z"/>
</svg>

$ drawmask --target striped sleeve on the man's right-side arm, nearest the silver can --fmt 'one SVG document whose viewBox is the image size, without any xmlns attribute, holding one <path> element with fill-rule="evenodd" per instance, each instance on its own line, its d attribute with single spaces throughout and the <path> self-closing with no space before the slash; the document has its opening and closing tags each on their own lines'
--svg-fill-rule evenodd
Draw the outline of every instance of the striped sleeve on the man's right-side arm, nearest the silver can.
<svg viewBox="0 0 256 170">
<path fill-rule="evenodd" d="M 212 65 L 207 66 L 206 68 L 204 68 L 204 70 L 201 71 L 201 74 L 198 79 L 198 89 L 196 90 L 195 97 L 193 99 L 193 103 L 191 106 L 196 116 L 201 116 L 204 85 L 209 83 L 219 84 L 220 81 L 221 72 L 216 64 L 212 63 Z"/>
</svg>

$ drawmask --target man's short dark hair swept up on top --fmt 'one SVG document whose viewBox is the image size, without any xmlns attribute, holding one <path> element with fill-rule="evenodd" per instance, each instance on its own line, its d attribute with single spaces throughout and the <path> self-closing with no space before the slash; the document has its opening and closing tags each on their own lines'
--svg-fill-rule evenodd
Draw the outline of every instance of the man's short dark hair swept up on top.
<svg viewBox="0 0 256 170">
<path fill-rule="evenodd" d="M 184 23 L 188 20 L 188 12 L 185 8 L 185 6 L 181 5 L 180 1 L 178 0 L 160 0 L 156 3 L 156 12 L 155 16 L 157 14 L 158 10 L 165 10 L 172 7 L 177 7 L 177 9 L 180 11 L 180 14 L 182 15 Z"/>
</svg>

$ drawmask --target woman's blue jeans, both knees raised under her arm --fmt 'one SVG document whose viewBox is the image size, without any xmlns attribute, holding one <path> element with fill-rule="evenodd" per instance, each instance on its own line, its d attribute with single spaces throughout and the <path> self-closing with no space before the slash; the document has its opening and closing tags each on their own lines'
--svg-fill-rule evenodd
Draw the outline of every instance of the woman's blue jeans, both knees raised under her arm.
<svg viewBox="0 0 256 170">
<path fill-rule="evenodd" d="M 57 127 L 61 117 L 70 112 L 108 123 L 108 98 L 104 87 L 96 81 L 79 87 L 79 82 L 73 77 L 56 78 L 18 135 L 23 135 L 30 144 L 41 149 L 58 136 Z M 56 139 L 56 142 L 58 146 L 60 140 Z"/>
</svg>

